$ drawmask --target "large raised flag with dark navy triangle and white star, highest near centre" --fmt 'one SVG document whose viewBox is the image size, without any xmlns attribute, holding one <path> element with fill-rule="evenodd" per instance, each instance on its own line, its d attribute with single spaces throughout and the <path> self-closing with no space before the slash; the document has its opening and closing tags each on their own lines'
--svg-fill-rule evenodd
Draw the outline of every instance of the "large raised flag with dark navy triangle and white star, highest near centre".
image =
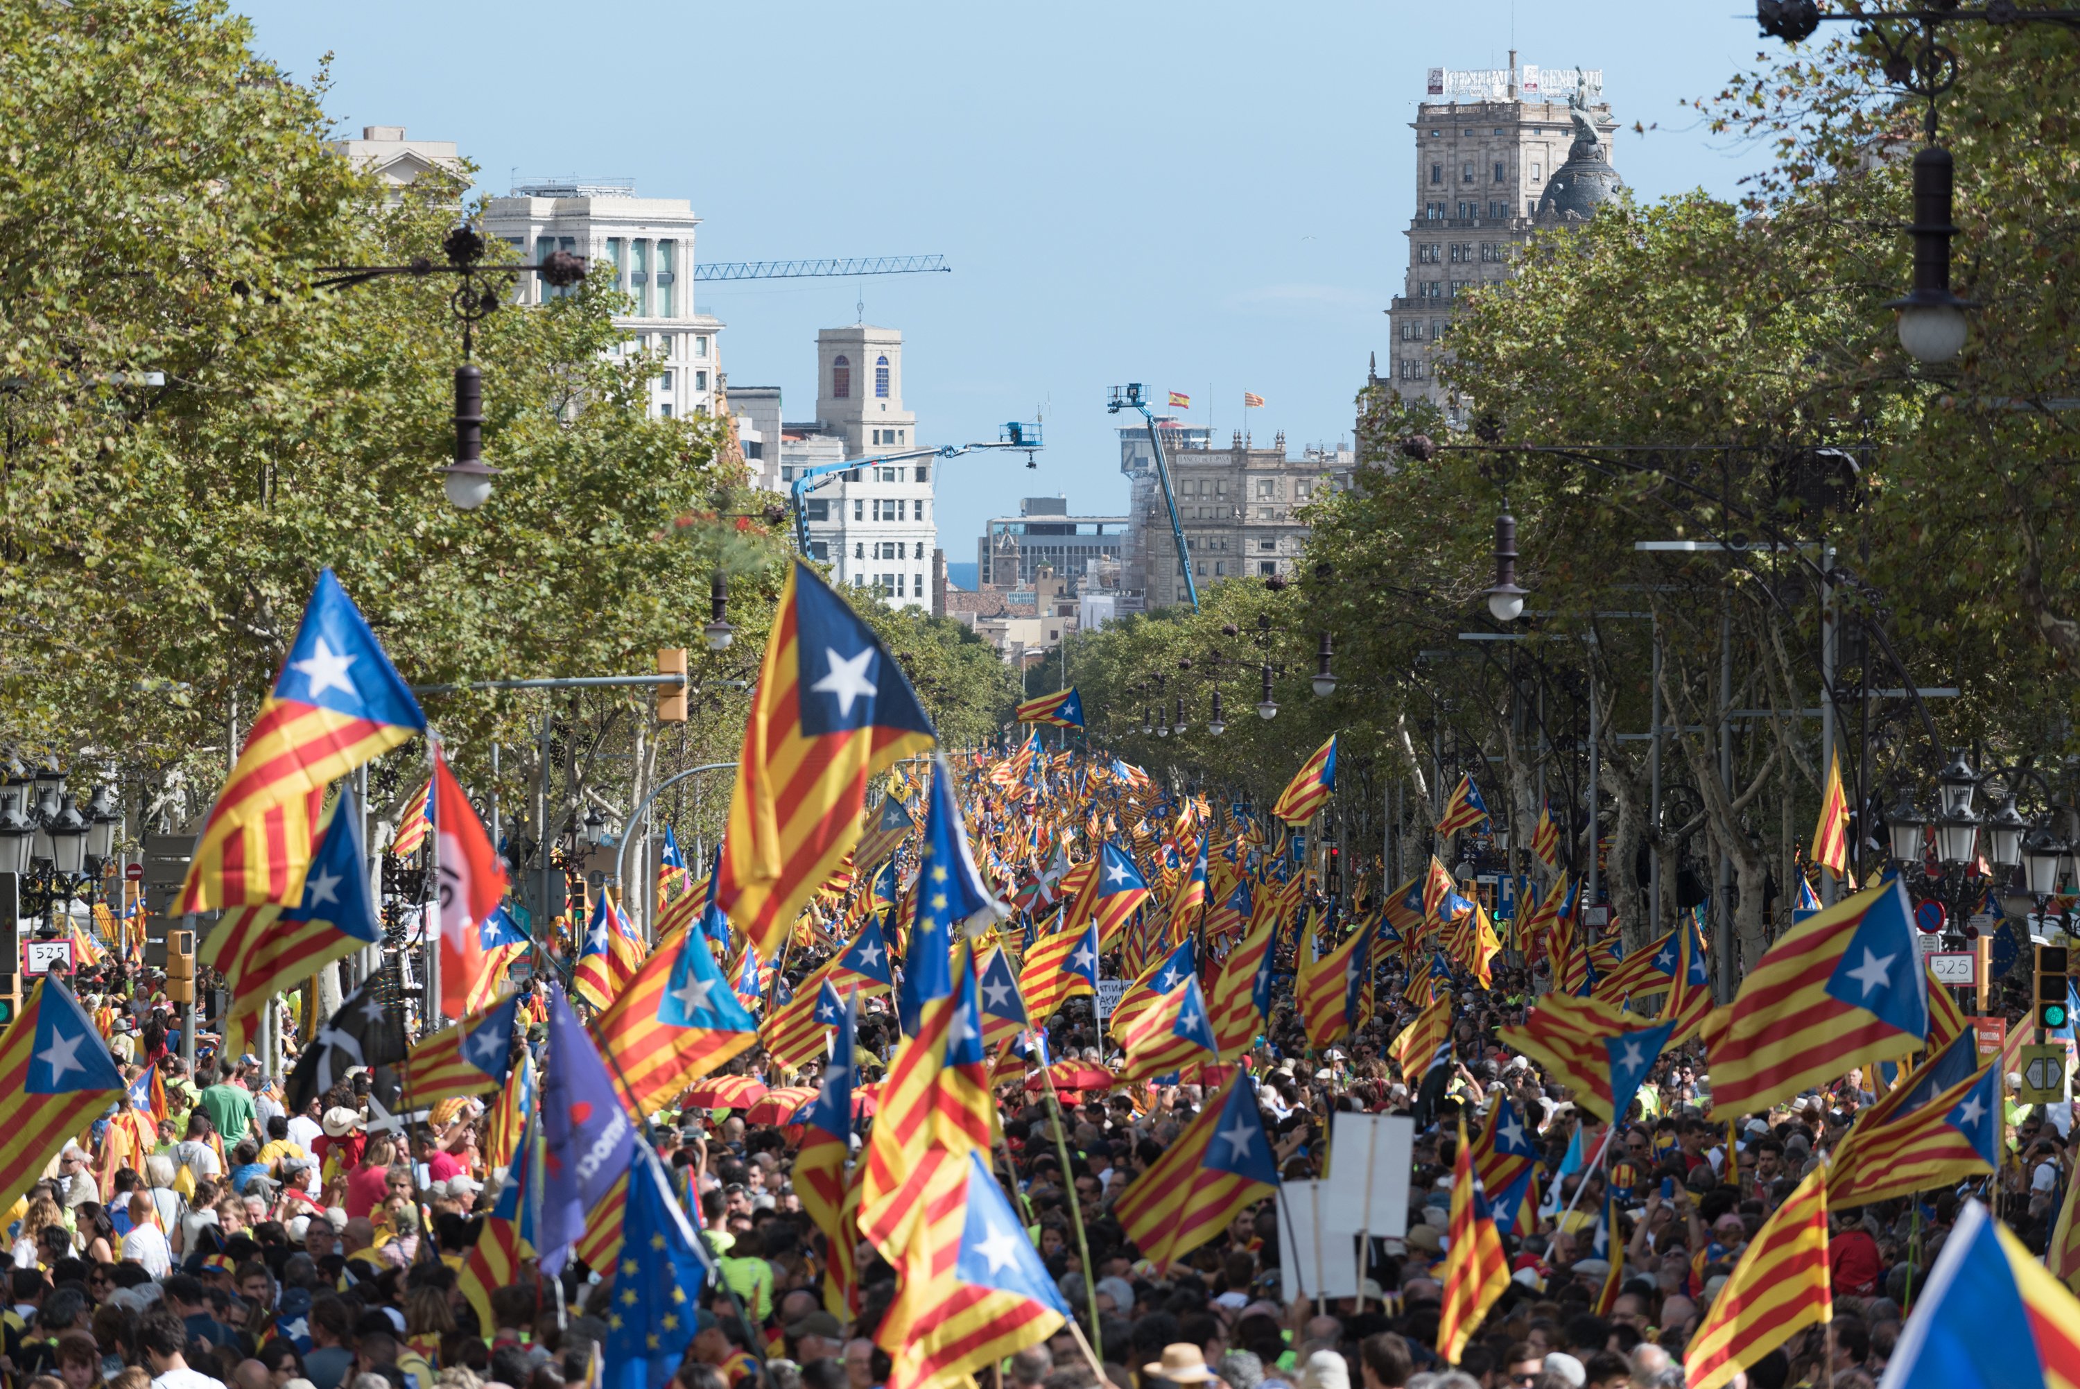
<svg viewBox="0 0 2080 1389">
<path fill-rule="evenodd" d="M 934 738 L 903 667 L 797 559 L 759 663 L 718 869 L 722 909 L 761 956 L 859 840 L 867 780 Z"/>
</svg>

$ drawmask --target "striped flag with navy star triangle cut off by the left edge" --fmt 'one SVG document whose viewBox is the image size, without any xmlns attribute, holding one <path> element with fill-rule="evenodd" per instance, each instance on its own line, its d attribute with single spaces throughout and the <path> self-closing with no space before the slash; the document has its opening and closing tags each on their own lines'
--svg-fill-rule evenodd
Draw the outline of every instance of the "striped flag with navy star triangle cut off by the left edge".
<svg viewBox="0 0 2080 1389">
<path fill-rule="evenodd" d="M 79 1000 L 54 977 L 29 992 L 21 1017 L 0 1031 L 0 1208 L 29 1191 L 64 1144 L 123 1094 L 108 1044 Z"/>
</svg>

